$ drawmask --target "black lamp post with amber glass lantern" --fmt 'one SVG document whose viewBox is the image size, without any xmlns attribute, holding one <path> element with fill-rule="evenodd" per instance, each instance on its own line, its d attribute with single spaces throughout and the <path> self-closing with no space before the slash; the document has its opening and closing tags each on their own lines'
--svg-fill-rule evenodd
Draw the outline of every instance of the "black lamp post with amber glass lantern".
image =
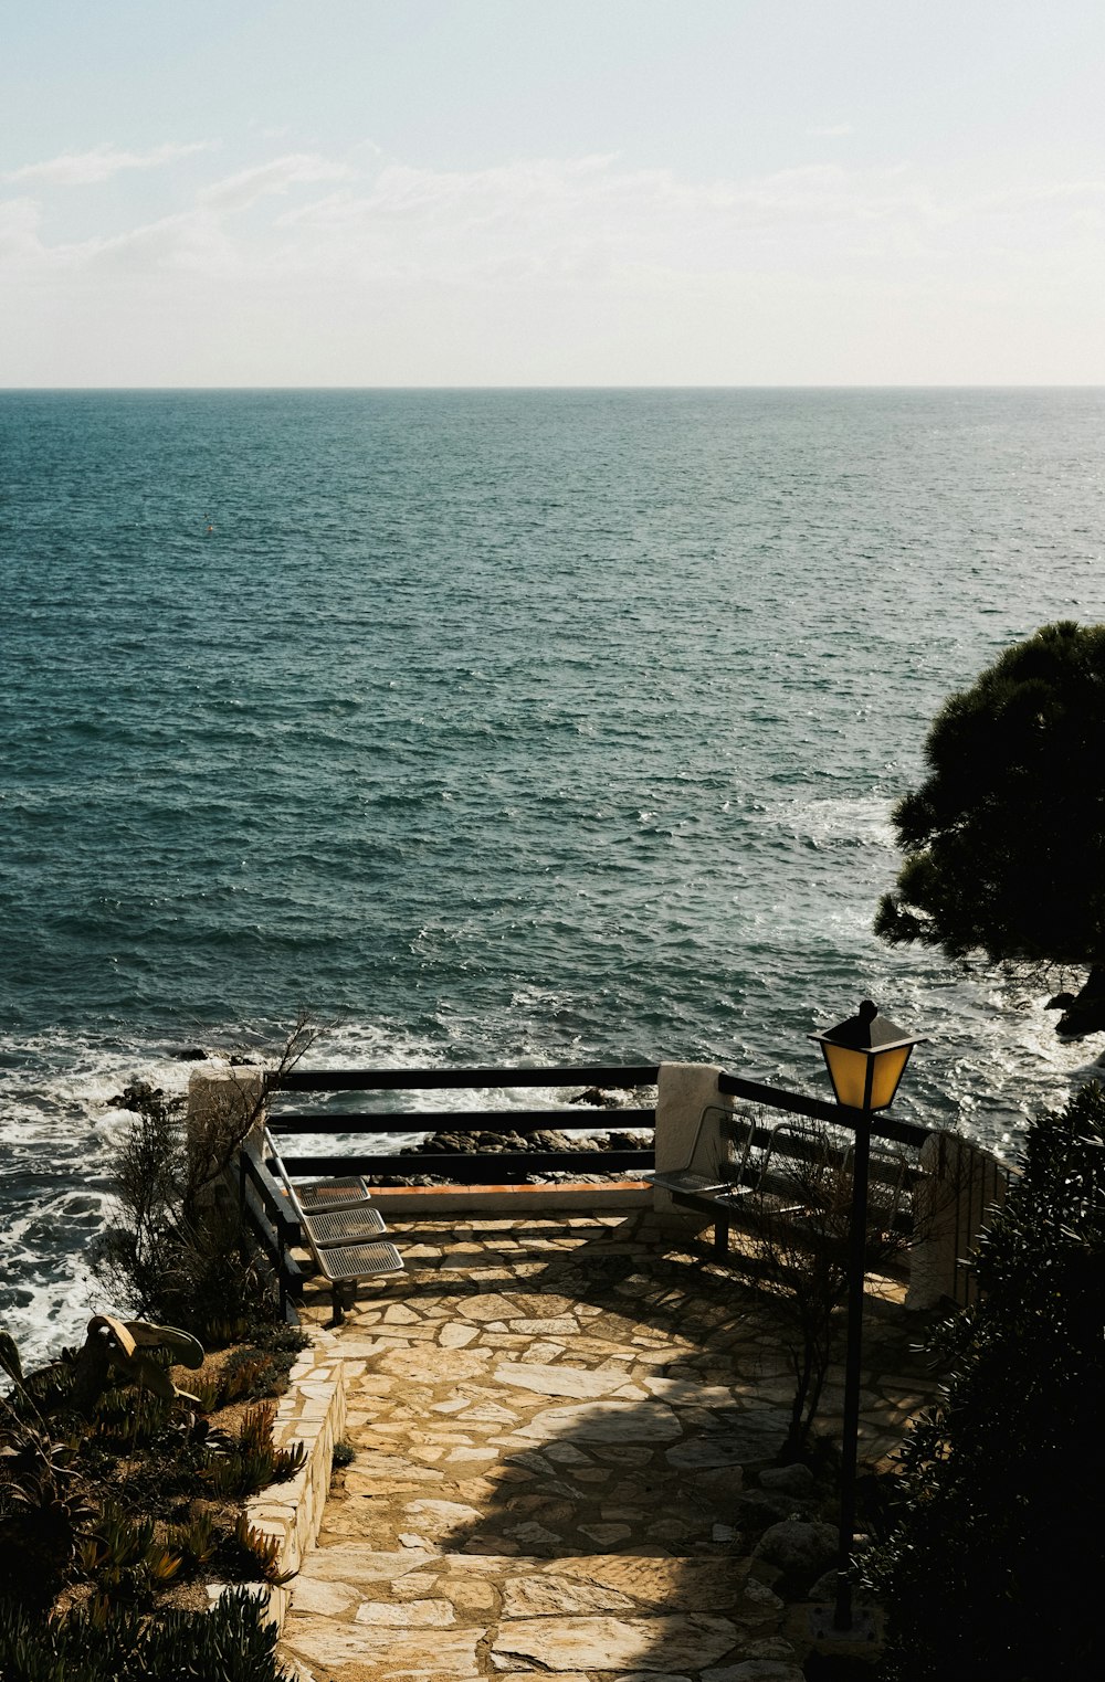
<svg viewBox="0 0 1105 1682">
<path fill-rule="evenodd" d="M 834 1630 L 851 1630 L 851 1547 L 856 1529 L 856 1450 L 859 1440 L 859 1357 L 863 1351 L 863 1283 L 868 1236 L 868 1166 L 871 1115 L 893 1103 L 910 1051 L 923 1041 L 905 1034 L 878 1006 L 864 999 L 854 1016 L 822 1034 L 821 1045 L 836 1102 L 851 1110 L 856 1147 L 851 1171 L 851 1233 L 848 1250 L 848 1351 L 844 1356 L 844 1441 L 841 1445 L 841 1542 L 836 1578 Z"/>
</svg>

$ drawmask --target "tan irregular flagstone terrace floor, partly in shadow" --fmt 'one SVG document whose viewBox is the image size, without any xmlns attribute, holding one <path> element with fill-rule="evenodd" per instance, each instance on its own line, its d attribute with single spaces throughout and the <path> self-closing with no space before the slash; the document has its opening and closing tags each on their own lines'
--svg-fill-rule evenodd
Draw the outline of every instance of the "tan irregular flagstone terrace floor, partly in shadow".
<svg viewBox="0 0 1105 1682">
<path fill-rule="evenodd" d="M 651 1211 L 454 1219 L 392 1221 L 407 1273 L 331 1334 L 357 1453 L 283 1660 L 313 1682 L 799 1682 L 809 1606 L 748 1552 L 765 1519 L 831 1514 L 757 1484 L 790 1398 L 759 1293 Z M 928 1399 L 917 1336 L 870 1302 L 866 1462 Z"/>
</svg>

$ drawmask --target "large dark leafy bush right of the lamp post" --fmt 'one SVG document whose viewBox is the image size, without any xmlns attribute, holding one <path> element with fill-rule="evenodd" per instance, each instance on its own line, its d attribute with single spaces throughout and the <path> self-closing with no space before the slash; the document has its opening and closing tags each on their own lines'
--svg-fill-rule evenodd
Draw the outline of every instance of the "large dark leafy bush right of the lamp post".
<svg viewBox="0 0 1105 1682">
<path fill-rule="evenodd" d="M 1100 1657 L 1100 1087 L 1033 1124 L 977 1268 L 979 1305 L 938 1339 L 944 1399 L 905 1445 L 898 1522 L 868 1561 L 893 1682 L 1053 1682 Z"/>
</svg>

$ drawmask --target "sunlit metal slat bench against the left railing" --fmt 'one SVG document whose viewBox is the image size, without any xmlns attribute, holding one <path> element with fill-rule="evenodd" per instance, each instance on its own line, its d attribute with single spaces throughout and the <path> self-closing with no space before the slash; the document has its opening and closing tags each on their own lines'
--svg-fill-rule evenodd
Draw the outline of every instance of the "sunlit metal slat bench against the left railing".
<svg viewBox="0 0 1105 1682">
<path fill-rule="evenodd" d="M 353 1305 L 357 1280 L 402 1273 L 404 1260 L 390 1240 L 378 1236 L 387 1228 L 362 1179 L 323 1179 L 293 1186 L 267 1129 L 264 1147 L 284 1186 L 315 1265 L 331 1287 L 331 1324 L 341 1325 L 346 1307 Z"/>
</svg>

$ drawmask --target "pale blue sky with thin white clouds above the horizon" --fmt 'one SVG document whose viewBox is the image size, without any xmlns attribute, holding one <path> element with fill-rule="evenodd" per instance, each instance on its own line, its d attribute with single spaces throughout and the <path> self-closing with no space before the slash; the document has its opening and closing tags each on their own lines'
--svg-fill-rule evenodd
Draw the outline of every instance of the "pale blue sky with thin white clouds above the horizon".
<svg viewBox="0 0 1105 1682">
<path fill-rule="evenodd" d="M 1105 383 L 1102 0 L 0 0 L 0 385 Z"/>
</svg>

